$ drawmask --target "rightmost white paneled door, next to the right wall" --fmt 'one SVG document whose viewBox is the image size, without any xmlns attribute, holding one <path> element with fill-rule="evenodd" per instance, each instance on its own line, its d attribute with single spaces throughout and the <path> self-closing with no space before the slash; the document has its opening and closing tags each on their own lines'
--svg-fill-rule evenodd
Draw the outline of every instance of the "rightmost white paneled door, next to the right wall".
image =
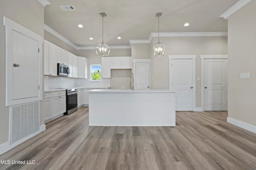
<svg viewBox="0 0 256 170">
<path fill-rule="evenodd" d="M 228 110 L 228 59 L 204 59 L 204 110 Z"/>
</svg>

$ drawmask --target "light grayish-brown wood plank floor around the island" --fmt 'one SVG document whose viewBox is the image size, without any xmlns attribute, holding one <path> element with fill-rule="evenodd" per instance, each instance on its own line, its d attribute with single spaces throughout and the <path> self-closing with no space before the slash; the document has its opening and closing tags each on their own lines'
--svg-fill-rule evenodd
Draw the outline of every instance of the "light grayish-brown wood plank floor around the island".
<svg viewBox="0 0 256 170">
<path fill-rule="evenodd" d="M 88 107 L 81 107 L 0 156 L 35 164 L 0 170 L 256 170 L 256 134 L 226 117 L 177 111 L 176 127 L 88 127 Z"/>
</svg>

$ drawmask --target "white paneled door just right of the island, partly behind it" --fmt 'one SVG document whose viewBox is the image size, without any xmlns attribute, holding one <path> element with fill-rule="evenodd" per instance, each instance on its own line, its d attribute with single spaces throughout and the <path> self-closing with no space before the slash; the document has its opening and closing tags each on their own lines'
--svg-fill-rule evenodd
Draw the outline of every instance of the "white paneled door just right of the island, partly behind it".
<svg viewBox="0 0 256 170">
<path fill-rule="evenodd" d="M 177 90 L 176 111 L 193 111 L 193 60 L 172 59 L 171 90 Z"/>
</svg>

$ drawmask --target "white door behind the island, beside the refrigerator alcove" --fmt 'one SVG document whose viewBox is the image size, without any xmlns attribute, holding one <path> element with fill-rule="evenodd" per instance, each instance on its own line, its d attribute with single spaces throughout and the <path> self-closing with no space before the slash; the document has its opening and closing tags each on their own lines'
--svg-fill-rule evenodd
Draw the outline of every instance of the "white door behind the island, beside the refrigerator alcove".
<svg viewBox="0 0 256 170">
<path fill-rule="evenodd" d="M 135 87 L 139 89 L 150 88 L 150 75 L 149 75 L 149 63 L 136 63 L 135 67 L 136 84 Z"/>
</svg>

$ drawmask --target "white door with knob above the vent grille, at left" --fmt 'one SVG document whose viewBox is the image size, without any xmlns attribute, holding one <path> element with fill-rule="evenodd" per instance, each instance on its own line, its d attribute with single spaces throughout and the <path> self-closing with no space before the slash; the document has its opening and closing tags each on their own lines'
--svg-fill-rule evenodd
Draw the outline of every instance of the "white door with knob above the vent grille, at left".
<svg viewBox="0 0 256 170">
<path fill-rule="evenodd" d="M 13 100 L 39 96 L 39 42 L 13 31 Z"/>
</svg>

